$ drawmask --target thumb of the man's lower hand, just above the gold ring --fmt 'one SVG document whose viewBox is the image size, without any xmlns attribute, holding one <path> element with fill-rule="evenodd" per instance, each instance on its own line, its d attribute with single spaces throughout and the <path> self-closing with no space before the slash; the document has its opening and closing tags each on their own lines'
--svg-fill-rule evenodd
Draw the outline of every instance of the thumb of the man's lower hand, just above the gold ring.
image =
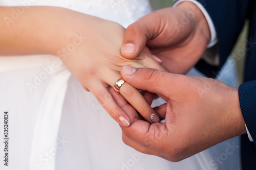
<svg viewBox="0 0 256 170">
<path fill-rule="evenodd" d="M 161 94 L 169 98 L 181 91 L 183 75 L 171 74 L 152 68 L 123 66 L 122 78 L 135 88 Z"/>
</svg>

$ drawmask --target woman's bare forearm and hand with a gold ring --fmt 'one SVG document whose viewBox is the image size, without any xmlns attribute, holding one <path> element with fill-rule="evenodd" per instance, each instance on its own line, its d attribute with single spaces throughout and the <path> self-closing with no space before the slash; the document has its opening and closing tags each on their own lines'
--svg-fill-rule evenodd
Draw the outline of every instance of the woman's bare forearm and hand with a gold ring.
<svg viewBox="0 0 256 170">
<path fill-rule="evenodd" d="M 12 10 L 16 8 L 0 7 L 0 17 L 11 18 Z M 121 57 L 125 30 L 117 23 L 68 9 L 29 7 L 11 22 L 2 19 L 0 27 L 0 55 L 50 54 L 60 57 L 83 88 L 91 91 L 121 126 L 129 126 L 135 120 L 115 103 L 108 90 L 121 77 L 121 67 L 131 65 L 164 70 L 145 53 L 135 59 Z M 75 50 L 67 51 L 74 44 Z M 154 110 L 136 88 L 125 83 L 120 93 L 151 122 L 150 115 Z M 159 122 L 157 115 L 155 121 Z"/>
</svg>

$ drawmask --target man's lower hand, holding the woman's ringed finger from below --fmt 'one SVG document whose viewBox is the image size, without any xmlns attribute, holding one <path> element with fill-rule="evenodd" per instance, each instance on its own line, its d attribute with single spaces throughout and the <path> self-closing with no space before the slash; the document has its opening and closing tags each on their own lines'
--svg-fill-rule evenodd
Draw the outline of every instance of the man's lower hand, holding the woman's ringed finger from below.
<svg viewBox="0 0 256 170">
<path fill-rule="evenodd" d="M 168 98 L 167 104 L 155 108 L 165 123 L 136 120 L 122 127 L 123 141 L 140 152 L 180 161 L 246 133 L 237 88 L 214 79 L 130 66 L 122 67 L 121 76 L 135 88 Z"/>
</svg>

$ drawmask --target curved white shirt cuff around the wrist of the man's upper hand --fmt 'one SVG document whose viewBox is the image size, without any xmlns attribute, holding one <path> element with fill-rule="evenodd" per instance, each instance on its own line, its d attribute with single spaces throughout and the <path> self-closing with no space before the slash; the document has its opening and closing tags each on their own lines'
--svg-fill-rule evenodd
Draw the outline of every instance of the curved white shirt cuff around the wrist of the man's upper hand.
<svg viewBox="0 0 256 170">
<path fill-rule="evenodd" d="M 214 22 L 212 22 L 210 15 L 208 14 L 208 12 L 205 10 L 205 8 L 203 7 L 202 4 L 200 4 L 199 2 L 195 1 L 195 0 L 179 0 L 176 3 L 174 3 L 173 7 L 176 7 L 178 4 L 180 4 L 181 2 L 184 1 L 189 1 L 191 3 L 194 3 L 195 5 L 198 6 L 198 8 L 202 11 L 202 13 L 204 14 L 204 17 L 206 18 L 209 28 L 210 28 L 210 42 L 207 45 L 207 48 L 210 48 L 212 46 L 214 46 L 217 42 L 217 33 L 216 33 L 216 29 L 214 27 Z"/>
</svg>

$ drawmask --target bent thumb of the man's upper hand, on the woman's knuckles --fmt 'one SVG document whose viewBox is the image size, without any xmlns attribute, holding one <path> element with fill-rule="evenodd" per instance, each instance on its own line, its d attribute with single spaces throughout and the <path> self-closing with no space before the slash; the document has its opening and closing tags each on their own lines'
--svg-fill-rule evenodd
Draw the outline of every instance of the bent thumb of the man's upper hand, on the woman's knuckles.
<svg viewBox="0 0 256 170">
<path fill-rule="evenodd" d="M 126 29 L 121 47 L 124 58 L 136 58 L 143 51 L 147 40 L 157 36 L 160 20 L 158 17 L 154 13 L 147 14 Z"/>
</svg>

